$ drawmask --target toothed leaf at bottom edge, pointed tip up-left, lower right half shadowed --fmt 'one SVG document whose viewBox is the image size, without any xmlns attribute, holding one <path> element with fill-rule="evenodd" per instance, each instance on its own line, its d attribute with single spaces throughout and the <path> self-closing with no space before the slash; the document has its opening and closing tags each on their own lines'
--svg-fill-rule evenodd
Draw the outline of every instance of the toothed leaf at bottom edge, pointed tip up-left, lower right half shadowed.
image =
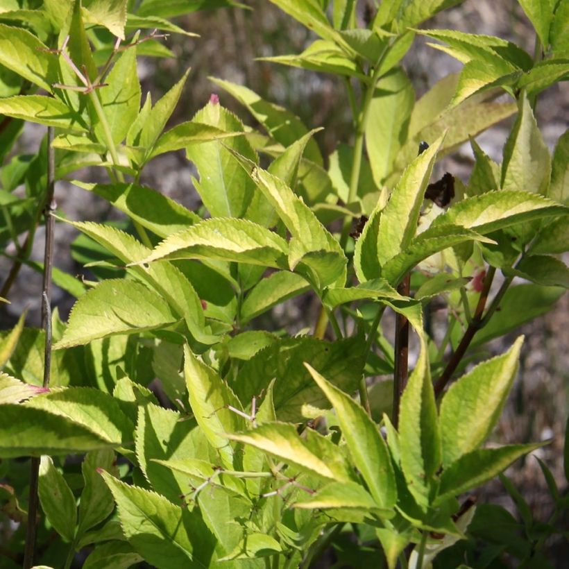
<svg viewBox="0 0 569 569">
<path fill-rule="evenodd" d="M 181 508 L 108 473 L 103 478 L 117 502 L 128 542 L 148 563 L 164 569 L 210 567 L 214 537 L 198 509 Z"/>
</svg>

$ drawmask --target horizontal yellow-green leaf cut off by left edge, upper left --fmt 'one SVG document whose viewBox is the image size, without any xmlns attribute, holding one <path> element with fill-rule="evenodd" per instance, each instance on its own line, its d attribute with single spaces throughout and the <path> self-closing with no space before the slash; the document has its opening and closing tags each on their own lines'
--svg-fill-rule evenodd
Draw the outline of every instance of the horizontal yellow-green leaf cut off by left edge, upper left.
<svg viewBox="0 0 569 569">
<path fill-rule="evenodd" d="M 0 99 L 0 114 L 47 126 L 85 132 L 81 117 L 59 99 L 42 95 L 16 95 Z"/>
</svg>

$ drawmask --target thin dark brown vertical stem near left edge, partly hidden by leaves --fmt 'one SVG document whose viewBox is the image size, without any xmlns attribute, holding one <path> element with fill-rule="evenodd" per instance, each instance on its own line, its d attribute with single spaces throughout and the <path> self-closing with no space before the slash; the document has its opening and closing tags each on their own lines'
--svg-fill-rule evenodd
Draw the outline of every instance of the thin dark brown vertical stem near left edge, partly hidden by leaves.
<svg viewBox="0 0 569 569">
<path fill-rule="evenodd" d="M 44 349 L 44 381 L 43 387 L 49 387 L 49 375 L 51 371 L 51 267 L 53 264 L 53 233 L 55 219 L 53 212 L 56 202 L 53 199 L 55 187 L 55 149 L 53 142 L 53 126 L 47 129 L 47 191 L 44 207 L 46 226 L 45 250 L 44 250 L 44 282 L 42 287 L 42 326 L 45 330 Z M 24 569 L 33 566 L 35 554 L 35 534 L 37 518 L 37 489 L 40 482 L 40 458 L 32 457 L 30 463 L 30 497 L 28 500 L 28 527 L 26 528 L 26 547 L 24 550 Z"/>
</svg>

